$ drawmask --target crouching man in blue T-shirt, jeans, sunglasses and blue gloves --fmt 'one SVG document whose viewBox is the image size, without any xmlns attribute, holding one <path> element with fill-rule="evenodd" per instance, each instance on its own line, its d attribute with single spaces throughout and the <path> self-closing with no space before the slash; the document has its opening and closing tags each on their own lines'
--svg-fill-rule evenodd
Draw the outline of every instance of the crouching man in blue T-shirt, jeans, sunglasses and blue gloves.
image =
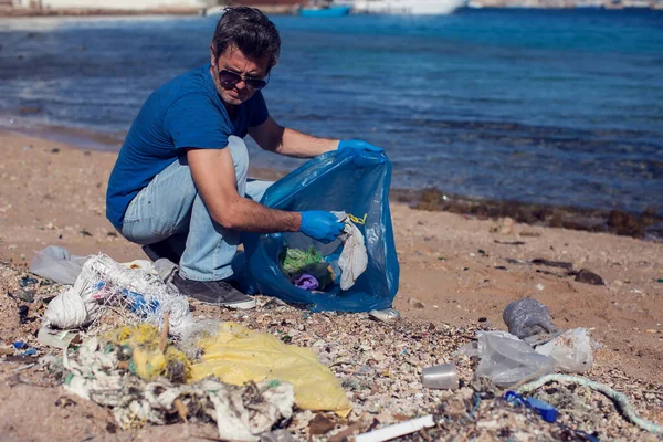
<svg viewBox="0 0 663 442">
<path fill-rule="evenodd" d="M 243 137 L 297 158 L 335 149 L 381 151 L 366 141 L 317 138 L 276 124 L 260 90 L 280 50 L 278 31 L 262 12 L 227 9 L 210 45 L 211 63 L 147 98 L 110 175 L 108 220 L 152 259 L 176 251 L 175 285 L 202 302 L 255 305 L 229 283 L 241 231 L 302 232 L 328 243 L 343 229 L 329 212 L 260 204 L 269 182 L 246 178 Z"/>
</svg>

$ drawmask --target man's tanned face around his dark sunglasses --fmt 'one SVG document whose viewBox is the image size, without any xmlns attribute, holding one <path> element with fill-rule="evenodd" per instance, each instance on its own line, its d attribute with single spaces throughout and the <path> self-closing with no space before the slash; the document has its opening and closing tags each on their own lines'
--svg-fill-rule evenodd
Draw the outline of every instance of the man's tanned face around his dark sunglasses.
<svg viewBox="0 0 663 442">
<path fill-rule="evenodd" d="M 230 45 L 217 60 L 214 50 L 211 49 L 212 77 L 217 92 L 224 103 L 236 106 L 244 103 L 256 90 L 248 87 L 246 80 L 264 80 L 269 74 L 267 60 L 250 60 L 244 56 L 236 46 Z M 223 84 L 220 80 L 220 71 L 229 71 L 241 76 L 241 81 L 234 85 Z M 223 73 L 222 73 L 223 74 Z M 227 74 L 228 75 L 228 74 Z"/>
</svg>

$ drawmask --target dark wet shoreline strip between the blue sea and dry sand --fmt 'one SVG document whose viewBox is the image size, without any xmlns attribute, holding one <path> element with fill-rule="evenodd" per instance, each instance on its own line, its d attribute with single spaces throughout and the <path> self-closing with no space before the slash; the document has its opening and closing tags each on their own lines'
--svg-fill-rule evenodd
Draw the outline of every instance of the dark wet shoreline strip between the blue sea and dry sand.
<svg viewBox="0 0 663 442">
<path fill-rule="evenodd" d="M 19 116 L 3 116 L 6 120 L 21 119 Z M 124 141 L 124 134 L 109 134 L 84 128 L 32 125 L 28 122 L 1 125 L 2 130 L 44 138 L 71 145 L 80 150 L 98 150 L 116 154 Z M 277 168 L 251 168 L 255 178 L 277 180 L 290 170 Z M 654 208 L 643 212 L 629 212 L 619 209 L 585 208 L 575 206 L 552 206 L 527 201 L 487 199 L 445 192 L 440 188 L 408 189 L 391 187 L 392 201 L 404 203 L 417 210 L 431 212 L 450 212 L 477 219 L 509 218 L 515 222 L 580 230 L 588 232 L 611 233 L 620 236 L 632 236 L 646 241 L 663 243 L 663 217 Z"/>
</svg>

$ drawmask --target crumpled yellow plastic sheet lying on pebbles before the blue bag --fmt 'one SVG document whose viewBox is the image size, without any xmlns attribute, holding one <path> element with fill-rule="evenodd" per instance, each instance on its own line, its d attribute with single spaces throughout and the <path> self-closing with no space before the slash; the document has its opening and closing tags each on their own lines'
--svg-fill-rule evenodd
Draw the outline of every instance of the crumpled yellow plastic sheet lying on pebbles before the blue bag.
<svg viewBox="0 0 663 442">
<path fill-rule="evenodd" d="M 203 362 L 191 366 L 196 382 L 209 376 L 242 386 L 249 381 L 292 383 L 302 409 L 336 411 L 347 417 L 352 407 L 338 379 L 308 348 L 288 346 L 267 333 L 222 323 L 219 334 L 199 341 Z"/>
</svg>

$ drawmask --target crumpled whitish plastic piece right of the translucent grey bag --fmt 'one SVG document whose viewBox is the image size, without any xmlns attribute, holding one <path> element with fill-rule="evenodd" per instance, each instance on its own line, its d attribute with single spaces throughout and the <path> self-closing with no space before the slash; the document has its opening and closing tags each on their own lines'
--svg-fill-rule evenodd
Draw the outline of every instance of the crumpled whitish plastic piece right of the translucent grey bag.
<svg viewBox="0 0 663 442">
<path fill-rule="evenodd" d="M 585 372 L 593 362 L 591 338 L 587 328 L 567 330 L 536 347 L 536 352 L 551 357 L 557 368 L 567 372 Z"/>
</svg>

